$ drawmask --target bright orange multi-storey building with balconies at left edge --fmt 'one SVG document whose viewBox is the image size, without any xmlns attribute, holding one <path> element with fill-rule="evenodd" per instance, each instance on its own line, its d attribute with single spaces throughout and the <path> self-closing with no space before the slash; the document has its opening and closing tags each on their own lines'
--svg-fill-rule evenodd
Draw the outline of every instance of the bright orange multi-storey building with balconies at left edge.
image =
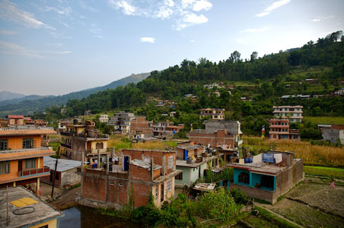
<svg viewBox="0 0 344 228">
<path fill-rule="evenodd" d="M 52 148 L 41 146 L 41 135 L 47 134 L 56 132 L 51 127 L 0 128 L 0 188 L 36 183 L 39 195 L 40 178 L 50 175 L 43 157 L 55 155 Z"/>
</svg>

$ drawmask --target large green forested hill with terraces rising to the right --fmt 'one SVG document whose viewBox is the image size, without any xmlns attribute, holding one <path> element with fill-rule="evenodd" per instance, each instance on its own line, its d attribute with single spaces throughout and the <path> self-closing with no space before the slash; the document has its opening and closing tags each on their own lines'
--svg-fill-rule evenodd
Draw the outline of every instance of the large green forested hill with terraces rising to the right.
<svg viewBox="0 0 344 228">
<path fill-rule="evenodd" d="M 193 122 L 196 128 L 199 110 L 210 107 L 229 111 L 226 119 L 256 123 L 255 128 L 259 130 L 264 118 L 270 117 L 272 106 L 277 104 L 301 104 L 305 107 L 305 115 L 344 116 L 344 99 L 338 97 L 281 100 L 281 95 L 328 95 L 340 88 L 339 82 L 344 81 L 342 34 L 341 31 L 334 32 L 299 49 L 261 58 L 253 52 L 249 60 L 242 60 L 237 51 L 219 62 L 206 58 L 200 58 L 198 62 L 183 60 L 180 65 L 152 71 L 138 84 L 101 91 L 83 100 L 69 100 L 64 116 L 59 114 L 58 107 L 52 107 L 47 110 L 50 113 L 47 117 L 73 117 L 83 115 L 85 110 L 100 113 L 129 109 L 138 115 L 146 115 L 148 119 L 163 121 L 166 117 L 161 114 L 178 111 L 182 115 L 173 118 L 173 122 Z M 316 82 L 306 83 L 306 78 L 316 78 Z M 203 85 L 209 82 L 223 82 L 224 88 L 205 89 Z M 214 93 L 216 90 L 221 94 L 219 97 Z M 197 101 L 184 98 L 186 94 L 196 95 Z M 242 97 L 250 101 L 244 102 Z M 156 98 L 178 102 L 178 106 L 176 109 L 157 107 L 153 102 Z M 257 121 L 257 117 L 264 117 L 264 121 Z"/>
</svg>

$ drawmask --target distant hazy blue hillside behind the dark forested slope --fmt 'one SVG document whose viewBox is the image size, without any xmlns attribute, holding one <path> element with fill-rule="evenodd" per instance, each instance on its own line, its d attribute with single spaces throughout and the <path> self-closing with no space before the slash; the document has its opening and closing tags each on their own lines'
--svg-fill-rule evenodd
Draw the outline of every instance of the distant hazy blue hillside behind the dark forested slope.
<svg viewBox="0 0 344 228">
<path fill-rule="evenodd" d="M 116 80 L 103 87 L 95 87 L 92 89 L 85 89 L 83 91 L 68 93 L 58 96 L 39 96 L 30 95 L 19 99 L 12 99 L 0 102 L 0 117 L 10 114 L 32 115 L 34 112 L 43 111 L 50 106 L 61 106 L 66 104 L 68 100 L 87 98 L 93 93 L 105 91 L 107 89 L 116 89 L 119 86 L 128 83 L 138 83 L 149 76 L 149 73 L 131 74 L 126 78 Z"/>
</svg>

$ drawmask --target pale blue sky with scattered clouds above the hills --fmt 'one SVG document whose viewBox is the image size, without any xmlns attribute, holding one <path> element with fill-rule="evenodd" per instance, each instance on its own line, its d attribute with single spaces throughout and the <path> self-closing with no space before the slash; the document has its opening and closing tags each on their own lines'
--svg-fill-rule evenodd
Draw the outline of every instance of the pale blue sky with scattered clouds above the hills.
<svg viewBox="0 0 344 228">
<path fill-rule="evenodd" d="M 344 30 L 343 0 L 0 0 L 0 91 L 62 95 Z"/>
</svg>

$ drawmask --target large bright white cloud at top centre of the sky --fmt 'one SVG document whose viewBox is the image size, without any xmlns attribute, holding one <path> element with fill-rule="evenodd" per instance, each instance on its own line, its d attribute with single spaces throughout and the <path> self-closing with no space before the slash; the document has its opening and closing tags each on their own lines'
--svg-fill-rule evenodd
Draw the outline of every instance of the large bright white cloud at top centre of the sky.
<svg viewBox="0 0 344 228">
<path fill-rule="evenodd" d="M 211 10 L 210 0 L 149 0 L 149 4 L 142 6 L 140 1 L 107 0 L 111 8 L 121 10 L 125 15 L 144 16 L 155 19 L 171 19 L 173 27 L 182 30 L 185 27 L 207 23 L 204 14 L 196 14 L 201 10 Z"/>
</svg>

